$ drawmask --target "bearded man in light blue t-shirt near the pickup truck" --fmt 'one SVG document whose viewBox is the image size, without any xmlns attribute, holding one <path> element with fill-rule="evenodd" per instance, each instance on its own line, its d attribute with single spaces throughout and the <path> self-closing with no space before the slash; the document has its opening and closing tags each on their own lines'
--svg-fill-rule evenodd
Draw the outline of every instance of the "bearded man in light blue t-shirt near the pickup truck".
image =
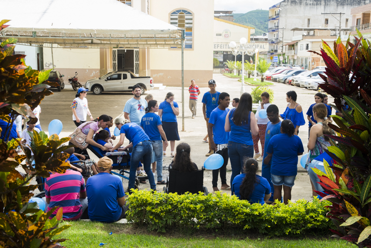
<svg viewBox="0 0 371 248">
<path fill-rule="evenodd" d="M 147 101 L 140 98 L 141 87 L 138 84 L 133 86 L 133 95 L 134 97 L 125 103 L 124 118 L 140 125 L 141 117 L 145 114 L 144 109 L 147 107 Z"/>
</svg>

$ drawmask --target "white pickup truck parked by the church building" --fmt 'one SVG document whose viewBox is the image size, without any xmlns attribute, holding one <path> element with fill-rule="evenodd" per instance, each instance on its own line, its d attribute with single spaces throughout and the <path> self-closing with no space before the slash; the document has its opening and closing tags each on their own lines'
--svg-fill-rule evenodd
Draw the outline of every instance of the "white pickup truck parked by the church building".
<svg viewBox="0 0 371 248">
<path fill-rule="evenodd" d="M 137 77 L 131 71 L 115 71 L 100 78 L 88 80 L 85 88 L 93 92 L 94 95 L 100 95 L 102 92 L 108 91 L 132 91 L 136 84 L 140 85 L 142 94 L 154 87 L 151 77 Z"/>
</svg>

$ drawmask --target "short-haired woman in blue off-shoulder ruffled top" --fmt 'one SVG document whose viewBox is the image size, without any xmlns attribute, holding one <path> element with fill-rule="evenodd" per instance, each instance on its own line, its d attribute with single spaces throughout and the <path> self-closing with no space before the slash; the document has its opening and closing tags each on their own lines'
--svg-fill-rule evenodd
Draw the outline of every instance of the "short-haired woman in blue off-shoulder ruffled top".
<svg viewBox="0 0 371 248">
<path fill-rule="evenodd" d="M 279 117 L 284 120 L 290 120 L 294 124 L 294 135 L 298 135 L 299 127 L 305 125 L 303 109 L 301 105 L 296 102 L 297 95 L 294 91 L 286 93 L 286 101 L 288 102 L 286 110 Z"/>
</svg>

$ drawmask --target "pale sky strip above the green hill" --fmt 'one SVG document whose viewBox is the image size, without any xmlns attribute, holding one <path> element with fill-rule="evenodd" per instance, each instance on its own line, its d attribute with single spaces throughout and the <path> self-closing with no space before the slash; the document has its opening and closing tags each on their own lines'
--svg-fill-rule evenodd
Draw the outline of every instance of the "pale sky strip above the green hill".
<svg viewBox="0 0 371 248">
<path fill-rule="evenodd" d="M 214 10 L 234 10 L 233 13 L 246 13 L 255 9 L 266 9 L 281 0 L 215 0 Z"/>
</svg>

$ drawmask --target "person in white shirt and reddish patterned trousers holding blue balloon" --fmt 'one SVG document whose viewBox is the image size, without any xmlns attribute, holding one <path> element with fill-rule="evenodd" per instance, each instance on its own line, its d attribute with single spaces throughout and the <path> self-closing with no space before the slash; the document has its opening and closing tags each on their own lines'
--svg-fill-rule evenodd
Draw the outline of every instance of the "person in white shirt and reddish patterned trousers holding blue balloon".
<svg viewBox="0 0 371 248">
<path fill-rule="evenodd" d="M 266 118 L 261 118 L 259 116 L 259 111 L 262 109 L 267 109 L 271 103 L 269 102 L 269 93 L 268 92 L 263 92 L 262 95 L 260 95 L 262 98 L 260 105 L 256 109 L 256 122 L 258 124 L 259 128 L 259 134 L 257 136 L 252 137 L 252 141 L 254 143 L 254 150 L 255 150 L 255 155 L 254 159 L 257 161 L 262 161 L 263 160 L 263 154 L 264 154 L 264 142 L 265 142 L 265 131 L 267 130 L 267 124 L 269 122 L 268 117 Z M 260 140 L 260 144 L 262 145 L 262 153 L 259 152 L 259 145 L 258 142 Z"/>
</svg>

